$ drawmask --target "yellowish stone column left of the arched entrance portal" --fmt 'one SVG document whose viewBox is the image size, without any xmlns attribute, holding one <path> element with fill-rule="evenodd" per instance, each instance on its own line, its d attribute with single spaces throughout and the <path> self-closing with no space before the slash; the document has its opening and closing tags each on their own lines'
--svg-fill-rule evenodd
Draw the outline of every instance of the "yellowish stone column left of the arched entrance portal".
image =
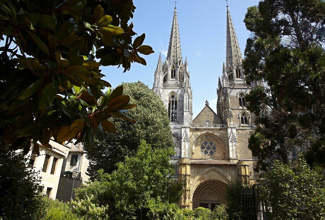
<svg viewBox="0 0 325 220">
<path fill-rule="evenodd" d="M 183 188 L 183 195 L 179 201 L 181 209 L 191 209 L 190 203 L 190 163 L 189 158 L 180 158 L 178 164 L 178 179 L 186 185 Z"/>
</svg>

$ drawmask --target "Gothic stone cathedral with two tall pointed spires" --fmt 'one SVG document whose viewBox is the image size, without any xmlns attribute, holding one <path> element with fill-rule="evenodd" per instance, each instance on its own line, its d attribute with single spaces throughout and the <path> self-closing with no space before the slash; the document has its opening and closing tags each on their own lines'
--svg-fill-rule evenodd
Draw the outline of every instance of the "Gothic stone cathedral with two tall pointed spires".
<svg viewBox="0 0 325 220">
<path fill-rule="evenodd" d="M 241 180 L 256 182 L 257 159 L 248 149 L 248 138 L 256 129 L 245 94 L 255 83 L 245 82 L 242 56 L 227 6 L 226 60 L 217 86 L 217 112 L 205 107 L 193 119 L 188 61 L 181 54 L 176 7 L 166 60 L 161 56 L 154 74 L 153 91 L 165 104 L 170 118 L 176 154 L 174 179 L 186 183 L 179 205 L 183 209 L 214 209 L 226 204 L 227 184 Z M 195 73 L 194 73 L 195 74 Z M 202 100 L 203 102 L 203 100 Z"/>
</svg>

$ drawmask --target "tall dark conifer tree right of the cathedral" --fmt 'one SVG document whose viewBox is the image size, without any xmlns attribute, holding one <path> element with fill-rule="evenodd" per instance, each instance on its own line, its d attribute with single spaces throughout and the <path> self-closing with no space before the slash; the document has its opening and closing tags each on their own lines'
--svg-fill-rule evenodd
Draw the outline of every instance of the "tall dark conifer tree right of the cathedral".
<svg viewBox="0 0 325 220">
<path fill-rule="evenodd" d="M 263 0 L 244 22 L 246 81 L 263 85 L 246 96 L 261 125 L 249 140 L 257 169 L 297 149 L 325 166 L 325 2 Z"/>
</svg>

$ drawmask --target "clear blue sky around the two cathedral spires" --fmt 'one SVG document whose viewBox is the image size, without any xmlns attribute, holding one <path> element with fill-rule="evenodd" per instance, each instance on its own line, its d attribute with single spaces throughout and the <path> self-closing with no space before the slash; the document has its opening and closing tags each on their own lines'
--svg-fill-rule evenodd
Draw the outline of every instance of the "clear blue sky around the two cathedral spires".
<svg viewBox="0 0 325 220">
<path fill-rule="evenodd" d="M 147 61 L 147 66 L 133 63 L 126 73 L 123 73 L 122 67 L 102 67 L 102 73 L 113 88 L 121 82 L 139 80 L 152 88 L 159 52 L 162 53 L 162 61 L 167 54 L 174 1 L 134 0 L 137 8 L 132 19 L 133 30 L 138 35 L 146 34 L 144 44 L 151 46 L 155 53 L 142 56 Z M 242 55 L 250 34 L 243 19 L 247 7 L 256 4 L 257 0 L 228 1 Z M 226 1 L 178 0 L 176 7 L 183 62 L 186 56 L 188 58 L 194 119 L 204 107 L 205 100 L 216 111 L 218 76 L 222 76 L 222 64 L 226 59 Z"/>
</svg>

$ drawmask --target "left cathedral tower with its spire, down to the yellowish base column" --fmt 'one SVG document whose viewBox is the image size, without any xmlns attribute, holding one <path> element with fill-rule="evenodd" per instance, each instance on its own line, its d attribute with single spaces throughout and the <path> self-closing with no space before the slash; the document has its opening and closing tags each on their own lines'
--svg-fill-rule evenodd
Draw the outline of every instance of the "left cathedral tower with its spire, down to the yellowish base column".
<svg viewBox="0 0 325 220">
<path fill-rule="evenodd" d="M 153 91 L 162 99 L 168 111 L 170 127 L 173 132 L 176 154 L 171 158 L 175 166 L 175 177 L 185 179 L 185 195 L 182 204 L 189 208 L 189 157 L 190 143 L 189 130 L 192 123 L 192 90 L 189 81 L 188 61 L 183 62 L 178 30 L 176 7 L 172 30 L 170 33 L 169 47 L 165 62 L 162 63 L 159 55 L 157 68 L 154 74 Z"/>
</svg>

